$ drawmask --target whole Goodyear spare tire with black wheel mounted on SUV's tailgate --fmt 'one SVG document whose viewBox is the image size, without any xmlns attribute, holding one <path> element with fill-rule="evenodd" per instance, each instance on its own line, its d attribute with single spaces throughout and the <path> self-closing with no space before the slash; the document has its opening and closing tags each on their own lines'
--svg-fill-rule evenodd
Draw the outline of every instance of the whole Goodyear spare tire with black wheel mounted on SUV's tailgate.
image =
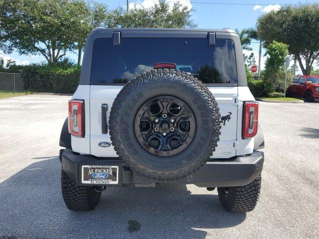
<svg viewBox="0 0 319 239">
<path fill-rule="evenodd" d="M 131 169 L 157 180 L 185 177 L 217 147 L 220 112 L 197 78 L 155 69 L 128 82 L 110 112 L 115 151 Z"/>
</svg>

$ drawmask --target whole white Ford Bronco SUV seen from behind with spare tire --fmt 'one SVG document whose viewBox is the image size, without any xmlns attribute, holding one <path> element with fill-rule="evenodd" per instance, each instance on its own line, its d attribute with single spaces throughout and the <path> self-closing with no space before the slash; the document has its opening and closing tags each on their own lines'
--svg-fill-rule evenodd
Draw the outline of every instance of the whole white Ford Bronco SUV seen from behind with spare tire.
<svg viewBox="0 0 319 239">
<path fill-rule="evenodd" d="M 93 210 L 110 186 L 217 187 L 249 212 L 264 137 L 230 29 L 95 28 L 60 136 L 68 209 Z"/>
</svg>

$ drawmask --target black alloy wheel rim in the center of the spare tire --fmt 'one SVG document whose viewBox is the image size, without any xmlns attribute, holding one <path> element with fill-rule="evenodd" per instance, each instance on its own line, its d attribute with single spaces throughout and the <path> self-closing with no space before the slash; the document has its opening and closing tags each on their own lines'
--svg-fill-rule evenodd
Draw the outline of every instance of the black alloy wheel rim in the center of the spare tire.
<svg viewBox="0 0 319 239">
<path fill-rule="evenodd" d="M 149 100 L 135 118 L 135 134 L 150 153 L 171 156 L 183 151 L 195 133 L 193 112 L 186 103 L 172 96 Z"/>
</svg>

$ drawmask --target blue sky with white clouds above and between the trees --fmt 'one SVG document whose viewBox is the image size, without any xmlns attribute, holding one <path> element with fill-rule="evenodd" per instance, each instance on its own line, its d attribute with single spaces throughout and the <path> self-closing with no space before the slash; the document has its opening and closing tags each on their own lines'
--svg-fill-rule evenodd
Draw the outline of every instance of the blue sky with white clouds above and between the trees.
<svg viewBox="0 0 319 239">
<path fill-rule="evenodd" d="M 119 6 L 126 7 L 127 2 L 126 0 L 95 1 L 107 4 L 110 9 Z M 157 0 L 129 0 L 129 7 L 134 7 L 134 4 L 137 4 L 138 7 L 150 7 L 155 1 Z M 278 10 L 281 5 L 316 2 L 315 0 L 166 0 L 169 4 L 173 4 L 173 1 L 179 1 L 183 5 L 194 9 L 192 12 L 192 19 L 198 25 L 198 28 L 227 27 L 231 29 L 238 28 L 239 30 L 255 27 L 257 18 L 261 14 L 271 10 Z M 254 52 L 258 64 L 259 43 L 253 40 L 251 47 L 253 48 L 253 51 L 251 52 Z M 250 54 L 251 52 L 244 51 L 246 54 Z M 263 49 L 262 55 L 264 54 L 265 49 Z M 19 55 L 16 51 L 9 55 L 4 55 L 3 52 L 0 51 L 0 56 L 2 56 L 5 61 L 12 59 L 16 61 L 17 64 L 30 64 L 45 61 L 43 56 Z M 66 56 L 73 59 L 75 62 L 77 61 L 76 54 L 68 52 Z M 266 57 L 262 58 L 261 69 L 264 68 L 265 59 Z M 291 64 L 293 64 L 293 62 L 291 62 Z M 315 66 L 315 68 L 318 68 L 318 66 Z"/>
</svg>

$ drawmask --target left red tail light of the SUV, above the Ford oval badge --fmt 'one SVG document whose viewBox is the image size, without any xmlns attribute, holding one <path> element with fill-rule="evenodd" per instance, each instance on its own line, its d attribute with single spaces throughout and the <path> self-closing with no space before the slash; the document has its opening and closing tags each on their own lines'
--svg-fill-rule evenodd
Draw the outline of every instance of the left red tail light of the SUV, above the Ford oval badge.
<svg viewBox="0 0 319 239">
<path fill-rule="evenodd" d="M 69 132 L 76 137 L 84 137 L 84 101 L 69 101 Z"/>
</svg>

